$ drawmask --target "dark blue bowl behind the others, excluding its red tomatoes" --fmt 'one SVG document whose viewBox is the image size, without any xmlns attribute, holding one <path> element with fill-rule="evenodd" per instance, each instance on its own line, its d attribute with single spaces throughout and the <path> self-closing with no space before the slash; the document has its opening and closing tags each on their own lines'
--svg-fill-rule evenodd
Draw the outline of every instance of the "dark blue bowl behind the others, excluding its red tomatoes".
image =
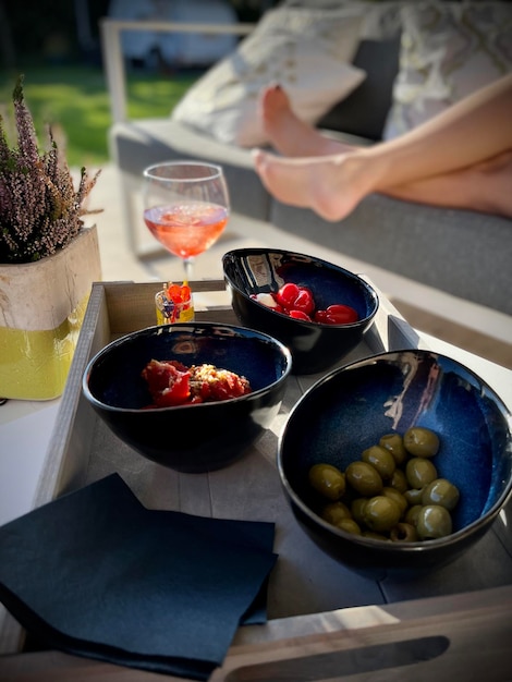
<svg viewBox="0 0 512 682">
<path fill-rule="evenodd" d="M 291 351 L 294 374 L 324 372 L 363 339 L 377 313 L 374 289 L 361 277 L 304 254 L 266 248 L 239 248 L 222 258 L 224 279 L 236 317 L 244 327 L 279 339 Z M 251 299 L 277 292 L 285 282 L 308 287 L 317 308 L 342 303 L 355 308 L 358 321 L 319 325 L 290 318 Z"/>
</svg>

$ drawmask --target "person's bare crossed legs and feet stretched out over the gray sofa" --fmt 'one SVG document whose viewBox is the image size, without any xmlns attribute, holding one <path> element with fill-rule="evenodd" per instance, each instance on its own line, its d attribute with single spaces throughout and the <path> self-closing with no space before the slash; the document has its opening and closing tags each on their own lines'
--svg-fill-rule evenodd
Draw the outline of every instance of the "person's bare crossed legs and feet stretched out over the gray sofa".
<svg viewBox="0 0 512 682">
<path fill-rule="evenodd" d="M 282 95 L 281 115 L 288 126 L 279 132 L 275 108 L 268 133 L 285 151 L 292 150 L 293 135 L 281 143 L 282 131 L 293 127 L 294 117 Z M 263 97 L 263 111 L 266 101 L 270 109 L 272 100 Z M 325 147 L 317 146 L 320 133 L 305 126 L 307 148 L 318 157 L 287 160 L 256 151 L 256 170 L 279 199 L 310 207 L 328 220 L 343 218 L 370 192 L 510 216 L 511 199 L 502 190 L 512 181 L 512 168 L 510 156 L 501 153 L 512 150 L 511 115 L 512 76 L 508 76 L 402 137 L 356 154 L 342 148 L 341 154 L 322 158 Z M 329 141 L 329 149 L 339 150 L 336 144 Z M 487 168 L 478 166 L 484 161 L 489 161 Z"/>
</svg>

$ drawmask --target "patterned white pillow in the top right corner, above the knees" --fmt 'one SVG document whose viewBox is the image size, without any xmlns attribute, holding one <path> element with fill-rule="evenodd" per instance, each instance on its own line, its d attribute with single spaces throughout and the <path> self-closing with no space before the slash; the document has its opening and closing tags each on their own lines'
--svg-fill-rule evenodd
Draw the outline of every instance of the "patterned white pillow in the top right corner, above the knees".
<svg viewBox="0 0 512 682">
<path fill-rule="evenodd" d="M 386 139 L 512 71 L 512 4 L 430 1 L 401 13 L 400 72 Z"/>
</svg>

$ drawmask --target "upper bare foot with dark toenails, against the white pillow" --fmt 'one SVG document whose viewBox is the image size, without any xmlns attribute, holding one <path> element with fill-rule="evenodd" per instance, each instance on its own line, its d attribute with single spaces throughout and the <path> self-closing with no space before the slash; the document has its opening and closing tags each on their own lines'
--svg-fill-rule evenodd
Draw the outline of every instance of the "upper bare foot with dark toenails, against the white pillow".
<svg viewBox="0 0 512 682">
<path fill-rule="evenodd" d="M 324 156 L 352 149 L 350 145 L 326 137 L 295 115 L 280 85 L 270 85 L 263 90 L 259 115 L 270 143 L 284 156 Z"/>
</svg>

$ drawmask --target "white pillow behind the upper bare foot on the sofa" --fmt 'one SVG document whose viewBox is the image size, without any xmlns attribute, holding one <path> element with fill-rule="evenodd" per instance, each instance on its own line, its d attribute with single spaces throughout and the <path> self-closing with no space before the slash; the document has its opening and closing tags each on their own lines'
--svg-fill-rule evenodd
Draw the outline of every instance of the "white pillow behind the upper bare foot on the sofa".
<svg viewBox="0 0 512 682">
<path fill-rule="evenodd" d="M 295 113 L 315 124 L 366 77 L 349 63 L 362 22 L 356 9 L 266 12 L 239 48 L 187 90 L 171 118 L 222 143 L 265 145 L 257 100 L 261 88 L 277 82 Z"/>
</svg>

